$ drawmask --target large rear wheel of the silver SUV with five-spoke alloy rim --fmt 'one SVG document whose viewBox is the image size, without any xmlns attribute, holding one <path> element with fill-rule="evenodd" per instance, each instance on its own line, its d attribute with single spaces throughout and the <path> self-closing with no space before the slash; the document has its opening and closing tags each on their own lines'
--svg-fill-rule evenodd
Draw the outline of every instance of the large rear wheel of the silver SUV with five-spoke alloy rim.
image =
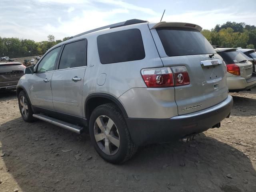
<svg viewBox="0 0 256 192">
<path fill-rule="evenodd" d="M 122 113 L 112 103 L 100 105 L 93 110 L 89 132 L 95 150 L 110 163 L 125 162 L 137 151 Z"/>
</svg>

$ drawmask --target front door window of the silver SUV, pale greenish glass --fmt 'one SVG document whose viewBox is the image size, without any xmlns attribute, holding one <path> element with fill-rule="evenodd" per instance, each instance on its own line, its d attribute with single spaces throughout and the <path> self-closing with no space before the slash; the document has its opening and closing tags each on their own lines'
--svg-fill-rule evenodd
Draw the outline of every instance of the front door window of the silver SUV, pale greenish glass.
<svg viewBox="0 0 256 192">
<path fill-rule="evenodd" d="M 57 60 L 58 52 L 61 47 L 51 50 L 38 64 L 37 72 L 46 72 L 54 70 L 54 64 Z"/>
</svg>

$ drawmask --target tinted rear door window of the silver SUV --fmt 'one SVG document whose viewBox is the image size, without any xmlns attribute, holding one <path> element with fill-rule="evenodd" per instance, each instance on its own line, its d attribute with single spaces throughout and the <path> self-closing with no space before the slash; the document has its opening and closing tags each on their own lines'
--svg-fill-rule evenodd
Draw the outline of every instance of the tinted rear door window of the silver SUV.
<svg viewBox="0 0 256 192">
<path fill-rule="evenodd" d="M 59 69 L 86 66 L 87 41 L 66 44 L 60 58 Z"/>
</svg>

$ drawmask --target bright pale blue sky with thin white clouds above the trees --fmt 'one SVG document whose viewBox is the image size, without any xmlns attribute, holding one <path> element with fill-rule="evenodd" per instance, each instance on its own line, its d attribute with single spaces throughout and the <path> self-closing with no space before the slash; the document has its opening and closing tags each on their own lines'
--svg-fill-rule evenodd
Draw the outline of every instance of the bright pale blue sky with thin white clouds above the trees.
<svg viewBox="0 0 256 192">
<path fill-rule="evenodd" d="M 56 40 L 129 19 L 256 25 L 256 0 L 1 0 L 0 36 Z"/>
</svg>

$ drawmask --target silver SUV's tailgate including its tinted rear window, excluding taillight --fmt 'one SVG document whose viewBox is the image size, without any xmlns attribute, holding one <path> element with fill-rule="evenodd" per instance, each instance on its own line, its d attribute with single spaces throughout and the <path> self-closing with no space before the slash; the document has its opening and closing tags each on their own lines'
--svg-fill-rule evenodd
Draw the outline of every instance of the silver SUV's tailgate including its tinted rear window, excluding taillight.
<svg viewBox="0 0 256 192">
<path fill-rule="evenodd" d="M 163 27 L 151 32 L 163 65 L 187 68 L 190 84 L 174 86 L 179 115 L 214 106 L 228 97 L 224 62 L 198 30 Z"/>
</svg>

